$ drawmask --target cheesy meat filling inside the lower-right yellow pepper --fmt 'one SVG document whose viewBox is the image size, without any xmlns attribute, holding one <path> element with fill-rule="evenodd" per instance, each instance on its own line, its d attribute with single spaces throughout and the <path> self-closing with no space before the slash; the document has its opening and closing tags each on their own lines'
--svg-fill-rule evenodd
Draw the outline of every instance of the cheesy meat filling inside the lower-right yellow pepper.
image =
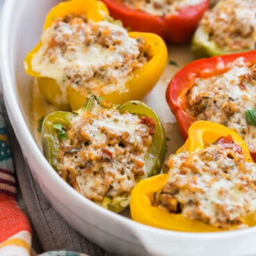
<svg viewBox="0 0 256 256">
<path fill-rule="evenodd" d="M 256 210 L 256 164 L 241 147 L 217 143 L 168 158 L 169 179 L 154 194 L 154 205 L 186 218 L 229 228 L 245 227 L 243 218 Z"/>
</svg>

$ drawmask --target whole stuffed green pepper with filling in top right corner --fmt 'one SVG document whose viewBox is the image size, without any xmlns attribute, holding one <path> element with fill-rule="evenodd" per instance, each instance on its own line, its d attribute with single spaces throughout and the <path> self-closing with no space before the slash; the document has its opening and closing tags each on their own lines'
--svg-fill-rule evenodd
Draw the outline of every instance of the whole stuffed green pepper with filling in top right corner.
<svg viewBox="0 0 256 256">
<path fill-rule="evenodd" d="M 205 13 L 195 32 L 195 56 L 218 56 L 255 49 L 256 1 L 223 0 Z"/>
</svg>

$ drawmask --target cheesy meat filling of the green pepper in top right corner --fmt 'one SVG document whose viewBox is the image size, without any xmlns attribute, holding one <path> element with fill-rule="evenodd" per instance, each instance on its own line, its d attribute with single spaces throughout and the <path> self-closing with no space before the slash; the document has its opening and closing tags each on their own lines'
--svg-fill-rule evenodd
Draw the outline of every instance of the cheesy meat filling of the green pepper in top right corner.
<svg viewBox="0 0 256 256">
<path fill-rule="evenodd" d="M 200 23 L 209 40 L 221 49 L 255 49 L 256 1 L 223 0 L 209 10 Z"/>
</svg>

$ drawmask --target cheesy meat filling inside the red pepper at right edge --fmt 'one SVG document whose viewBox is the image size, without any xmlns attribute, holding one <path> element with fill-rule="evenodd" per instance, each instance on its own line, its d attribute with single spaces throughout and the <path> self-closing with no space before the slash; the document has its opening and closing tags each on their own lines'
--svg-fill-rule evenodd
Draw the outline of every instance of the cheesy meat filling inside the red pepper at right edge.
<svg viewBox="0 0 256 256">
<path fill-rule="evenodd" d="M 248 125 L 245 111 L 256 109 L 256 65 L 239 58 L 230 70 L 209 79 L 197 78 L 187 95 L 187 113 L 197 120 L 218 122 L 236 131 L 256 152 L 256 127 Z"/>
</svg>

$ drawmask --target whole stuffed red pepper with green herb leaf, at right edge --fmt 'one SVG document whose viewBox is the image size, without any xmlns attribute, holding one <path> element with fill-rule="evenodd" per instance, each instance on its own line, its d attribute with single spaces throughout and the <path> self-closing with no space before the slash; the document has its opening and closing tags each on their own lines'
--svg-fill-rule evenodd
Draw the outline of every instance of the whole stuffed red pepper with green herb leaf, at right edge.
<svg viewBox="0 0 256 256">
<path fill-rule="evenodd" d="M 166 99 L 184 138 L 195 120 L 236 131 L 256 160 L 256 51 L 201 59 L 177 72 Z"/>
</svg>

